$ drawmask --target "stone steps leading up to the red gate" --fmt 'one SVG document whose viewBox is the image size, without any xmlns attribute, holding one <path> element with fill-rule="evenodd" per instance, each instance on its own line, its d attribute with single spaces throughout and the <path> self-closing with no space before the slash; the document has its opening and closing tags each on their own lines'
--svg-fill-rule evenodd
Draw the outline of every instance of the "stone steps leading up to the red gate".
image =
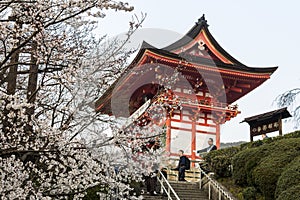
<svg viewBox="0 0 300 200">
<path fill-rule="evenodd" d="M 199 189 L 198 183 L 170 181 L 171 186 L 179 196 L 180 200 L 208 200 L 205 191 Z M 146 200 L 167 200 L 166 196 L 143 195 Z M 172 195 L 172 199 L 175 197 Z"/>
</svg>

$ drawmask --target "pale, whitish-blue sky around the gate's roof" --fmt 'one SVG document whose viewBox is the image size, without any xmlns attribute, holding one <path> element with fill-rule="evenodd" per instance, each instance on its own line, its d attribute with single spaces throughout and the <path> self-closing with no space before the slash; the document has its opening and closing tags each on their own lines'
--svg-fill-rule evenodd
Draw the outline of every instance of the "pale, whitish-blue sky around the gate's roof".
<svg viewBox="0 0 300 200">
<path fill-rule="evenodd" d="M 176 37 L 178 34 L 184 35 L 205 14 L 211 34 L 237 60 L 247 66 L 279 66 L 270 80 L 236 102 L 241 114 L 222 126 L 221 142 L 249 141 L 249 126 L 240 122 L 245 117 L 277 109 L 274 99 L 300 85 L 300 1 L 128 2 L 135 10 L 131 13 L 107 12 L 107 17 L 99 23 L 99 35 L 124 33 L 132 15 L 140 16 L 143 12 L 147 13 L 147 17 L 141 31 L 172 31 L 173 37 Z M 156 45 L 151 34 L 143 34 L 143 37 L 143 40 Z M 170 38 L 171 41 L 165 39 L 166 44 L 175 41 Z M 294 123 L 284 122 L 283 129 L 284 133 L 293 131 Z"/>
</svg>

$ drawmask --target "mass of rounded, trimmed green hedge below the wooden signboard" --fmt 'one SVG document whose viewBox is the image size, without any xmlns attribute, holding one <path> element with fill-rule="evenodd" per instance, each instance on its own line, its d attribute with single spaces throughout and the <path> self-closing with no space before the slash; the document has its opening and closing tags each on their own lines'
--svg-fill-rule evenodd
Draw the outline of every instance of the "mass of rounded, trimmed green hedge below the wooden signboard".
<svg viewBox="0 0 300 200">
<path fill-rule="evenodd" d="M 300 185 L 300 131 L 213 151 L 206 160 L 219 178 L 245 188 L 240 199 L 300 199 L 294 188 Z"/>
</svg>

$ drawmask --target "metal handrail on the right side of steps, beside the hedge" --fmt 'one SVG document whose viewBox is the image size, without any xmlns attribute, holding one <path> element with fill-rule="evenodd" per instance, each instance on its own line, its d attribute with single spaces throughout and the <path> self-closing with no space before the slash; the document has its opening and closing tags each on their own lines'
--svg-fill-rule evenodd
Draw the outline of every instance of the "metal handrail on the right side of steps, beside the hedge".
<svg viewBox="0 0 300 200">
<path fill-rule="evenodd" d="M 201 167 L 199 166 L 200 169 L 200 182 L 199 182 L 199 188 L 202 189 L 202 173 L 204 174 L 204 176 L 207 178 L 208 180 L 208 199 L 212 199 L 211 198 L 211 186 L 215 187 L 218 192 L 219 192 L 219 200 L 222 199 L 222 195 L 224 197 L 226 197 L 229 200 L 234 200 L 221 186 L 219 183 L 217 183 L 215 180 L 213 180 L 208 174 L 206 174 L 204 172 L 203 169 L 201 169 Z"/>
</svg>

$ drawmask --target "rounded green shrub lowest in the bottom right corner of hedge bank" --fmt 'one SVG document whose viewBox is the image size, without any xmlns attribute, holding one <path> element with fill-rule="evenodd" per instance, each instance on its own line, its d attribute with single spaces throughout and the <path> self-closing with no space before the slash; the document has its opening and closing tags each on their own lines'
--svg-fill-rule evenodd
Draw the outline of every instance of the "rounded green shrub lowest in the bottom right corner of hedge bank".
<svg viewBox="0 0 300 200">
<path fill-rule="evenodd" d="M 300 156 L 294 159 L 294 161 L 286 167 L 279 177 L 275 196 L 280 196 L 282 192 L 295 185 L 300 185 Z"/>
</svg>

